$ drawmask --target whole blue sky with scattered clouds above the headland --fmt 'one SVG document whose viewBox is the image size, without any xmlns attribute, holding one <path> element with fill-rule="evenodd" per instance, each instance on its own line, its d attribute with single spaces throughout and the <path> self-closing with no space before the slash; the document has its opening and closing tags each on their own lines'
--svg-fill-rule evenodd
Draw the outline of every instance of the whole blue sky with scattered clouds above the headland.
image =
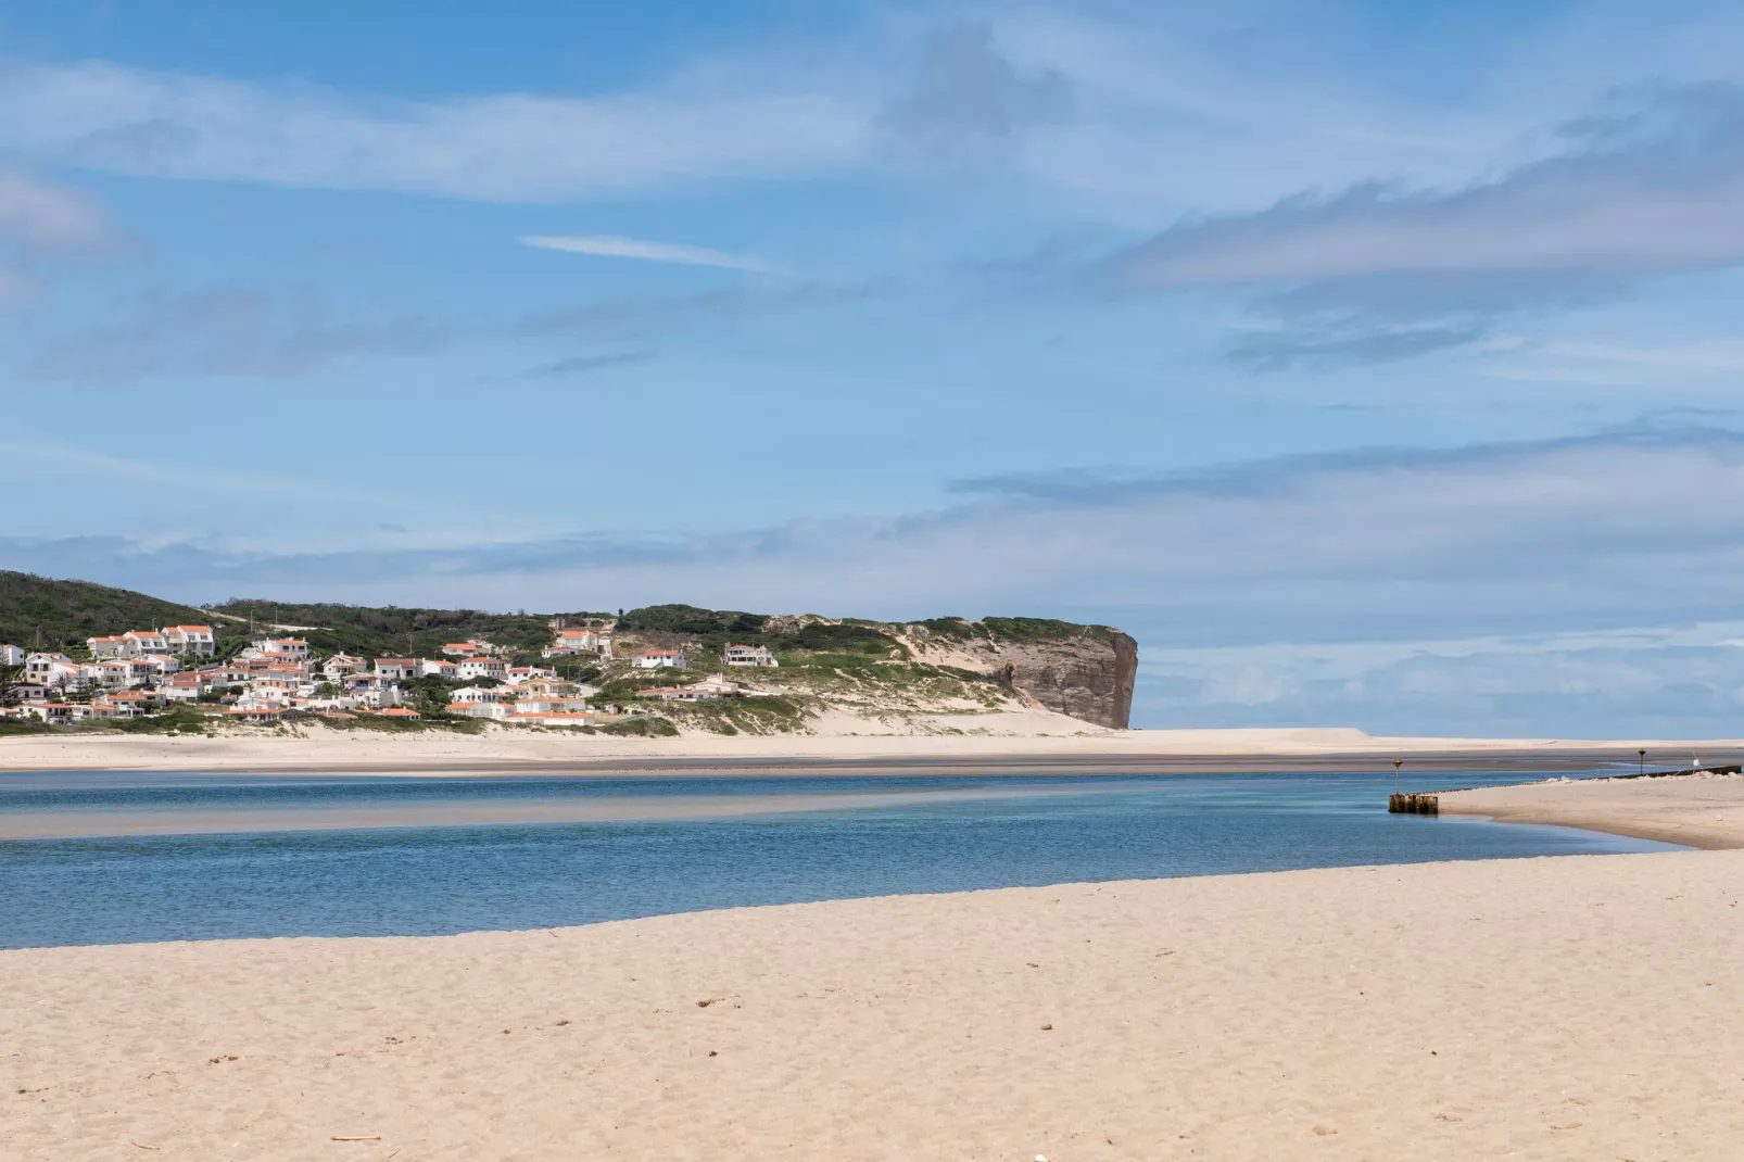
<svg viewBox="0 0 1744 1162">
<path fill-rule="evenodd" d="M 0 567 L 1737 736 L 1744 9 L 0 0 Z"/>
</svg>

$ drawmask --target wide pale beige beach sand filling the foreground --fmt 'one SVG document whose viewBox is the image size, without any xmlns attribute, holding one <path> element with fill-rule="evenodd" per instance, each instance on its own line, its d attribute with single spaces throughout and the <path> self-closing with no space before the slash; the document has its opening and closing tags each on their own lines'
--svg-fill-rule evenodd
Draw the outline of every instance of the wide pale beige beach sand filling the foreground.
<svg viewBox="0 0 1744 1162">
<path fill-rule="evenodd" d="M 1730 1160 L 1741 902 L 1702 851 L 9 951 L 0 1159 Z"/>
</svg>

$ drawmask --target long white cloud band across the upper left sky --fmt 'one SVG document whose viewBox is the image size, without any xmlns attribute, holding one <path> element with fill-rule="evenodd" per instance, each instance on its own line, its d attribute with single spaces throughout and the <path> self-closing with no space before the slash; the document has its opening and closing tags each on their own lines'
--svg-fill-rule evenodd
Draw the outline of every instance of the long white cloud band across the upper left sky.
<svg viewBox="0 0 1744 1162">
<path fill-rule="evenodd" d="M 0 65 L 0 148 L 160 178 L 570 199 L 827 171 L 855 157 L 865 124 L 814 92 L 385 101 L 108 63 Z"/>
</svg>

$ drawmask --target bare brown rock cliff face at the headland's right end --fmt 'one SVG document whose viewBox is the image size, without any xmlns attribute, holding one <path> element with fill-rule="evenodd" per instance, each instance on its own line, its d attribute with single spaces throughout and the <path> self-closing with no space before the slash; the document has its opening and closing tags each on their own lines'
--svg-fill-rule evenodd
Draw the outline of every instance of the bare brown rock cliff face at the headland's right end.
<svg viewBox="0 0 1744 1162">
<path fill-rule="evenodd" d="M 1120 630 L 987 618 L 910 625 L 903 637 L 921 658 L 992 675 L 1057 714 L 1113 729 L 1132 722 L 1139 644 Z"/>
</svg>

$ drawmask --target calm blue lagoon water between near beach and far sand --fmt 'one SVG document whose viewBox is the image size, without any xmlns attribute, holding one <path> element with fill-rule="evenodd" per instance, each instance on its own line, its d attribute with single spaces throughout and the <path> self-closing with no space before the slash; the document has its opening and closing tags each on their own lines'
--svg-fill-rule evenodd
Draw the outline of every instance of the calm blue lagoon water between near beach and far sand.
<svg viewBox="0 0 1744 1162">
<path fill-rule="evenodd" d="M 907 892 L 1671 850 L 1556 827 L 1395 817 L 1386 813 L 1392 782 L 1390 775 L 572 782 L 0 773 L 0 813 L 996 792 L 738 818 L 3 841 L 0 947 L 439 935 Z M 1521 776 L 1437 773 L 1418 789 L 1509 782 Z"/>
</svg>

